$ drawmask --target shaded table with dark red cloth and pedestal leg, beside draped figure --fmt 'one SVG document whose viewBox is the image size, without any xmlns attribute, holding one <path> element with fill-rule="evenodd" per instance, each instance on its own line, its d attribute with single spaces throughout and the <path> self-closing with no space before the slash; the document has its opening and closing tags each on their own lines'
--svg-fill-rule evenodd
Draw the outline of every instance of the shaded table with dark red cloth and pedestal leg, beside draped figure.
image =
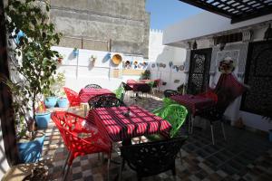
<svg viewBox="0 0 272 181">
<path fill-rule="evenodd" d="M 216 104 L 215 100 L 201 95 L 178 94 L 170 96 L 170 99 L 175 100 L 189 110 L 189 133 L 192 133 L 193 122 L 198 112 L 208 109 Z"/>
</svg>

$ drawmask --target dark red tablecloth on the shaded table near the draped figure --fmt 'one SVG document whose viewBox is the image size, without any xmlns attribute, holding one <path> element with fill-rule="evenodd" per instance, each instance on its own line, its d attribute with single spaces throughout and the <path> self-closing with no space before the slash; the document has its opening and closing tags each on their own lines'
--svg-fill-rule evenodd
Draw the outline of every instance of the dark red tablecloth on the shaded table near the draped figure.
<svg viewBox="0 0 272 181">
<path fill-rule="evenodd" d="M 192 115 L 195 115 L 198 110 L 209 108 L 213 106 L 216 102 L 210 98 L 205 98 L 202 96 L 193 96 L 189 94 L 185 95 L 175 95 L 170 97 L 171 100 L 179 102 L 181 105 L 185 106 Z"/>
</svg>

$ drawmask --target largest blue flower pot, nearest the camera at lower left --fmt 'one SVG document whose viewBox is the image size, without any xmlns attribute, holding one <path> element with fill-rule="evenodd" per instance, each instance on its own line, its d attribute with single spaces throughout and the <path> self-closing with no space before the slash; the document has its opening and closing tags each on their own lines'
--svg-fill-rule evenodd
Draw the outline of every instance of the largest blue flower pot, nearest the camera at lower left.
<svg viewBox="0 0 272 181">
<path fill-rule="evenodd" d="M 35 163 L 42 155 L 44 138 L 35 138 L 33 141 L 17 143 L 21 163 Z"/>
</svg>

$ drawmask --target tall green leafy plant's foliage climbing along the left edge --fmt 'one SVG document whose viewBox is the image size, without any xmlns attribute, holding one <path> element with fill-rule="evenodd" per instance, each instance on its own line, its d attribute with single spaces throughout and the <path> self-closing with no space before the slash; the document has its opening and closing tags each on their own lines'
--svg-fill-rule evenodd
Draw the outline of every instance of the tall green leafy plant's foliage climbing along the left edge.
<svg viewBox="0 0 272 181">
<path fill-rule="evenodd" d="M 30 119 L 26 116 L 29 111 L 35 118 L 37 102 L 44 91 L 50 89 L 60 57 L 58 52 L 51 50 L 60 42 L 62 34 L 54 32 L 54 25 L 47 15 L 49 9 L 48 2 L 35 0 L 9 0 L 5 7 L 9 58 L 16 76 L 12 81 L 5 77 L 1 80 L 13 93 L 15 115 L 24 118 L 24 126 L 29 125 Z M 15 42 L 20 31 L 25 35 Z"/>
</svg>

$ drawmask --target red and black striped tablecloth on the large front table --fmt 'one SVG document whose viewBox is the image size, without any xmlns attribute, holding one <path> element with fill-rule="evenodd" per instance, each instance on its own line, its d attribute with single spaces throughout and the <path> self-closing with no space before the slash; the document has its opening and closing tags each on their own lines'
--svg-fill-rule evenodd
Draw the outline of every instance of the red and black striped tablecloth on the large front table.
<svg viewBox="0 0 272 181">
<path fill-rule="evenodd" d="M 92 118 L 102 135 L 113 142 L 157 133 L 169 136 L 171 129 L 167 120 L 138 106 L 98 108 L 90 110 L 89 114 L 92 116 L 86 119 Z"/>
</svg>

